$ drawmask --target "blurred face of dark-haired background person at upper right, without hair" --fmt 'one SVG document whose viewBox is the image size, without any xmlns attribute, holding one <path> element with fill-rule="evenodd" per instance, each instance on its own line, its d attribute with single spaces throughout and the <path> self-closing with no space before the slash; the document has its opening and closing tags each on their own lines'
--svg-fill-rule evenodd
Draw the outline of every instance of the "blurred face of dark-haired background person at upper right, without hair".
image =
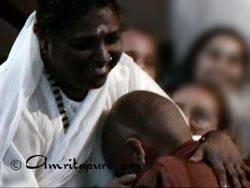
<svg viewBox="0 0 250 188">
<path fill-rule="evenodd" d="M 195 77 L 231 91 L 243 80 L 243 64 L 240 42 L 230 36 L 217 36 L 198 55 Z"/>
</svg>

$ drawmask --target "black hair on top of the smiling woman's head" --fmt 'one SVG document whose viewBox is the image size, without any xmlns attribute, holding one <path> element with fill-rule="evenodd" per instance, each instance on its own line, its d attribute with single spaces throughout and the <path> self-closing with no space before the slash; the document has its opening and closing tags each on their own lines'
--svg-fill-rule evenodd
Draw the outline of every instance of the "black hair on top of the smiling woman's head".
<svg viewBox="0 0 250 188">
<path fill-rule="evenodd" d="M 37 0 L 36 29 L 47 36 L 58 35 L 95 8 L 110 8 L 119 18 L 116 0 Z"/>
</svg>

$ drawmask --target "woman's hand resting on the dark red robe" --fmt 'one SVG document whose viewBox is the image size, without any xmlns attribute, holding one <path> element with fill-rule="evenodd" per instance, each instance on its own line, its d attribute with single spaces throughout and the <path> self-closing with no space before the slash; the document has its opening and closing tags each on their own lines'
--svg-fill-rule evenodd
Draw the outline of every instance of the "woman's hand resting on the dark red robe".
<svg viewBox="0 0 250 188">
<path fill-rule="evenodd" d="M 227 174 L 234 187 L 242 187 L 246 182 L 245 173 L 241 168 L 243 161 L 238 148 L 224 133 L 209 133 L 190 160 L 193 162 L 207 160 L 221 187 L 228 186 Z"/>
</svg>

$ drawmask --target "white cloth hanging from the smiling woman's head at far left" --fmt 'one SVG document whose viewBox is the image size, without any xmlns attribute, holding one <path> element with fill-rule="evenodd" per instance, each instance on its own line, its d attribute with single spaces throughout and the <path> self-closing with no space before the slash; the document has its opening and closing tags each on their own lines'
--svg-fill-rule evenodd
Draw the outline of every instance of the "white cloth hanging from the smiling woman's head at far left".
<svg viewBox="0 0 250 188">
<path fill-rule="evenodd" d="M 7 61 L 0 67 L 0 160 L 16 133 L 22 107 L 34 92 L 43 70 L 34 23 L 35 12 L 26 21 Z"/>
</svg>

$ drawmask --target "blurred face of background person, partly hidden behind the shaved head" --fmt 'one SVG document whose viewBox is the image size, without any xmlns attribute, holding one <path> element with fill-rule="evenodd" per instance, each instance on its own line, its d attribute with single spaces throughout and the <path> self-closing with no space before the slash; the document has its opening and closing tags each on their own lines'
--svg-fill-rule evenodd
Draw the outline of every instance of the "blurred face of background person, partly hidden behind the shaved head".
<svg viewBox="0 0 250 188">
<path fill-rule="evenodd" d="M 219 107 L 205 89 L 195 86 L 180 89 L 173 100 L 187 116 L 193 135 L 204 135 L 218 129 Z"/>
</svg>

